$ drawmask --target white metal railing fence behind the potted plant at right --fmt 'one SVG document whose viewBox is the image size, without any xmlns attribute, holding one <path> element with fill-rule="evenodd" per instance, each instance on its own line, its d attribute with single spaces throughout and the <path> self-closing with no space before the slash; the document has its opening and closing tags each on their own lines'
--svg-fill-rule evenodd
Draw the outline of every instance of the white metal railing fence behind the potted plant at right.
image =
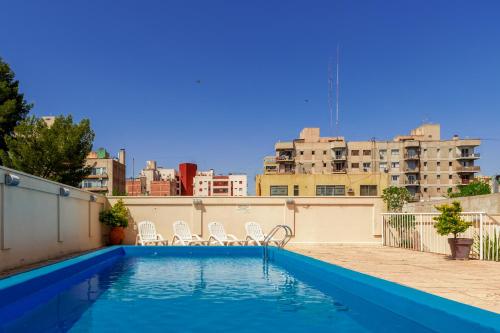
<svg viewBox="0 0 500 333">
<path fill-rule="evenodd" d="M 472 226 L 460 237 L 472 238 L 471 257 L 500 261 L 500 223 L 482 212 L 462 213 Z M 434 225 L 439 213 L 384 213 L 382 239 L 385 246 L 422 252 L 450 254 L 449 236 L 440 236 Z"/>
</svg>

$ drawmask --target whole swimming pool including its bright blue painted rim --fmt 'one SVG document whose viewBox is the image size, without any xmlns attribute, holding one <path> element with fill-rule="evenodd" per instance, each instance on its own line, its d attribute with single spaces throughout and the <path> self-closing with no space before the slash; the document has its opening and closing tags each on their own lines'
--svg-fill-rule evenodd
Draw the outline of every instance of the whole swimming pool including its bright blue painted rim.
<svg viewBox="0 0 500 333">
<path fill-rule="evenodd" d="M 99 250 L 0 280 L 0 332 L 494 332 L 499 315 L 277 248 Z"/>
</svg>

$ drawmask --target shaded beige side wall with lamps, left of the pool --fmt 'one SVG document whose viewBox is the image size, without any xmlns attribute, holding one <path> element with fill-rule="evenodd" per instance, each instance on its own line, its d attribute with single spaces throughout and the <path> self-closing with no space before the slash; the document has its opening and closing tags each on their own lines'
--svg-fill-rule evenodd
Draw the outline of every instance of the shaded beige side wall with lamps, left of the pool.
<svg viewBox="0 0 500 333">
<path fill-rule="evenodd" d="M 5 174 L 20 177 L 7 186 Z M 70 189 L 68 197 L 59 189 Z M 0 167 L 0 271 L 102 246 L 105 198 Z"/>
</svg>

